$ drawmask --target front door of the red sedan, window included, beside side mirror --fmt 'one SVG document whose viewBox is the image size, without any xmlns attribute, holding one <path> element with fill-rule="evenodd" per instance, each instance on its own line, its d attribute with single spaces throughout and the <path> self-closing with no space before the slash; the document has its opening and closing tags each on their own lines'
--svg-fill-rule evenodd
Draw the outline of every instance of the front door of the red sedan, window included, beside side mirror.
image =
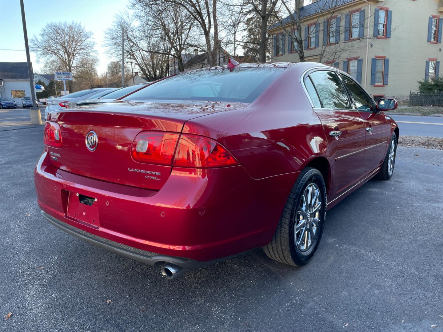
<svg viewBox="0 0 443 332">
<path fill-rule="evenodd" d="M 373 99 L 351 77 L 341 74 L 350 93 L 354 109 L 365 121 L 365 156 L 363 174 L 367 175 L 381 165 L 389 142 L 389 125 L 383 112 L 377 111 Z"/>
</svg>

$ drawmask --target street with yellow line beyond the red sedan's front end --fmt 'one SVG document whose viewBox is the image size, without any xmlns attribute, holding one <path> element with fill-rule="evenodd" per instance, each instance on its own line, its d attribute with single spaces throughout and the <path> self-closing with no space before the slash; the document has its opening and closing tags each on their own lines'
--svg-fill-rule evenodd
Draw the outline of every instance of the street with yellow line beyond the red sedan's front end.
<svg viewBox="0 0 443 332">
<path fill-rule="evenodd" d="M 400 135 L 443 138 L 443 117 L 389 114 L 400 129 Z"/>
</svg>

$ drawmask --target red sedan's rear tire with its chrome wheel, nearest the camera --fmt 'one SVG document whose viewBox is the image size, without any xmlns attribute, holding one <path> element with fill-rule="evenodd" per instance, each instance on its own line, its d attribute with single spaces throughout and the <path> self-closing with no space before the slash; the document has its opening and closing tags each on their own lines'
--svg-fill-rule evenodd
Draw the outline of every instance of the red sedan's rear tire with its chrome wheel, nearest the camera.
<svg viewBox="0 0 443 332">
<path fill-rule="evenodd" d="M 291 189 L 271 242 L 263 247 L 268 257 L 302 266 L 314 256 L 323 233 L 326 185 L 319 170 L 306 167 Z"/>
</svg>

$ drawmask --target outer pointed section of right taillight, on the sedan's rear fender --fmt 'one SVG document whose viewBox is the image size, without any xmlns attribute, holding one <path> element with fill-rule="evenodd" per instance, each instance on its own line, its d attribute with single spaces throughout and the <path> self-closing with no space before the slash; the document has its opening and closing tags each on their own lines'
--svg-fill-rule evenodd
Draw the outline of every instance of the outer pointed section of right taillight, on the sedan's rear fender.
<svg viewBox="0 0 443 332">
<path fill-rule="evenodd" d="M 216 141 L 197 135 L 181 135 L 174 166 L 214 168 L 238 165 L 237 160 Z"/>
</svg>

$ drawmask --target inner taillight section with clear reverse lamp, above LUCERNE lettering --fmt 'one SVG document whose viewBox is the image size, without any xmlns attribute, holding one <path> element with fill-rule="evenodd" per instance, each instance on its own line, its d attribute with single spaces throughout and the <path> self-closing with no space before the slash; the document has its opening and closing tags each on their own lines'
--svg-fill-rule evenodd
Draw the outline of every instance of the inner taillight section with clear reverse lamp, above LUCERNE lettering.
<svg viewBox="0 0 443 332">
<path fill-rule="evenodd" d="M 132 144 L 132 158 L 137 162 L 172 165 L 179 134 L 165 132 L 142 132 Z"/>
</svg>

